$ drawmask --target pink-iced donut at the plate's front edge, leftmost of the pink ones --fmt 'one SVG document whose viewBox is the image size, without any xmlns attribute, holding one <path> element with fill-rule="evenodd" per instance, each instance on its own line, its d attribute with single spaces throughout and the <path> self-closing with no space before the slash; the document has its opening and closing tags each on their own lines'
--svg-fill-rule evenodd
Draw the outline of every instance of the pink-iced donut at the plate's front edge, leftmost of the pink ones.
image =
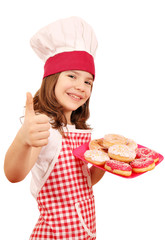
<svg viewBox="0 0 165 240">
<path fill-rule="evenodd" d="M 118 175 L 129 177 L 132 174 L 132 167 L 128 163 L 124 163 L 117 160 L 109 160 L 105 163 L 104 168 L 109 172 L 113 172 Z"/>
</svg>

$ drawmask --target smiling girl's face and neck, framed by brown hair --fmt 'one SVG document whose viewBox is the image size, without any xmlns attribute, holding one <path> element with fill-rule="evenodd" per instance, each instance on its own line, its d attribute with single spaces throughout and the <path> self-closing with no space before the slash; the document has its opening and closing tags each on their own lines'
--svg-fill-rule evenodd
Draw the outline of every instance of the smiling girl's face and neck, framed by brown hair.
<svg viewBox="0 0 165 240">
<path fill-rule="evenodd" d="M 55 96 L 58 103 L 64 107 L 68 123 L 72 111 L 82 106 L 90 97 L 92 84 L 92 74 L 85 71 L 71 70 L 60 74 L 55 87 Z"/>
</svg>

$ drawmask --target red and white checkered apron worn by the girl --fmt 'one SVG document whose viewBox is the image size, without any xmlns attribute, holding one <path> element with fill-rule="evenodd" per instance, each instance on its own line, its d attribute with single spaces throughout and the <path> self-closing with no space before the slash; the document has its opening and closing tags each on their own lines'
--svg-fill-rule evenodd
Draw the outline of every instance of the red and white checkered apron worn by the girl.
<svg viewBox="0 0 165 240">
<path fill-rule="evenodd" d="M 39 220 L 30 240 L 96 239 L 95 202 L 87 164 L 73 149 L 91 134 L 69 132 L 50 176 L 38 194 Z"/>
</svg>

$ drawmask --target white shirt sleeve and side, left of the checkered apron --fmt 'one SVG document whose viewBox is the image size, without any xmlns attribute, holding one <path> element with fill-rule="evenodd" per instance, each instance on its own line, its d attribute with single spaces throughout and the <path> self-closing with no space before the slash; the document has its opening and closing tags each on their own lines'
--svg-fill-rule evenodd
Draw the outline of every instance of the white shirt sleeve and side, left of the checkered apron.
<svg viewBox="0 0 165 240">
<path fill-rule="evenodd" d="M 31 170 L 32 179 L 30 190 L 37 198 L 39 191 L 49 177 L 55 163 L 58 161 L 62 147 L 62 136 L 58 130 L 50 128 L 48 144 L 41 149 L 38 159 Z"/>
</svg>

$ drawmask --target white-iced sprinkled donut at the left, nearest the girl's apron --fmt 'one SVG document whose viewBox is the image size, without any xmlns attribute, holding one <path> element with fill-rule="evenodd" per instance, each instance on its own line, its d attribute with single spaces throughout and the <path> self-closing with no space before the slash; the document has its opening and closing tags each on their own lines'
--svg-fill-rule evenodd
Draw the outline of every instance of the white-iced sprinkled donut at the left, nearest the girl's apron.
<svg viewBox="0 0 165 240">
<path fill-rule="evenodd" d="M 92 164 L 96 164 L 96 165 L 104 165 L 106 161 L 109 160 L 109 156 L 107 153 L 104 153 L 100 150 L 87 150 L 84 153 L 84 158 L 92 163 Z"/>
</svg>

